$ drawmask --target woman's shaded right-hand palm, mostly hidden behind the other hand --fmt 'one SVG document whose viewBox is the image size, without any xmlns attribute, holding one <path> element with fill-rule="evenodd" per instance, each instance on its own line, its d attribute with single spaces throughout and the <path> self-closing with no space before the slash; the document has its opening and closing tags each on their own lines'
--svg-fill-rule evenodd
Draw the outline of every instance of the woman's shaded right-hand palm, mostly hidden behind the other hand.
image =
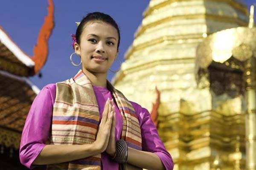
<svg viewBox="0 0 256 170">
<path fill-rule="evenodd" d="M 112 106 L 112 111 L 113 111 L 113 120 L 112 120 L 112 125 L 111 125 L 111 132 L 110 132 L 110 137 L 108 141 L 108 147 L 106 149 L 106 152 L 110 156 L 114 156 L 116 153 L 116 140 L 115 140 L 115 132 L 116 132 L 116 113 L 115 113 L 115 106 L 113 105 L 113 99 L 111 101 L 111 106 Z"/>
</svg>

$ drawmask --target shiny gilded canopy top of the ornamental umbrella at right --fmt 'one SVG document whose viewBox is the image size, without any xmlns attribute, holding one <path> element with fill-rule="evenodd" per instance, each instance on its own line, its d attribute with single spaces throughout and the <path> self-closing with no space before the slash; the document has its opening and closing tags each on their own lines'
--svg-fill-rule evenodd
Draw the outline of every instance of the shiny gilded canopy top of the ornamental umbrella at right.
<svg viewBox="0 0 256 170">
<path fill-rule="evenodd" d="M 243 62 L 256 57 L 256 28 L 238 27 L 209 35 L 198 45 L 195 70 L 207 68 L 212 61 L 224 63 L 230 57 Z"/>
</svg>

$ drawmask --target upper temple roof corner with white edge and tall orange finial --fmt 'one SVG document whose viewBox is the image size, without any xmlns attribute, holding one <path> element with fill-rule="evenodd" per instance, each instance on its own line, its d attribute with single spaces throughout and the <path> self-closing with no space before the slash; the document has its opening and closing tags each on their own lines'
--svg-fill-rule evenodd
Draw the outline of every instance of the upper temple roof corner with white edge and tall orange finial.
<svg viewBox="0 0 256 170">
<path fill-rule="evenodd" d="M 48 55 L 48 40 L 54 28 L 54 5 L 52 0 L 48 2 L 48 14 L 38 35 L 32 57 L 22 51 L 0 26 L 0 70 L 29 77 L 37 74 L 44 66 Z"/>
</svg>

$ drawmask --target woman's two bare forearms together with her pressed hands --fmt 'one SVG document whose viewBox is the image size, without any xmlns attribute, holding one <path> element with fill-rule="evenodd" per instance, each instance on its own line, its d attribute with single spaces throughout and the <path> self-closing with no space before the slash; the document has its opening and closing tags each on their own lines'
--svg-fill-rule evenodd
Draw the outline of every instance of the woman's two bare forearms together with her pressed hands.
<svg viewBox="0 0 256 170">
<path fill-rule="evenodd" d="M 116 153 L 116 113 L 113 103 L 113 100 L 108 99 L 105 104 L 95 142 L 82 145 L 47 144 L 32 164 L 58 164 L 87 158 L 104 151 L 114 157 Z M 128 152 L 127 162 L 129 164 L 145 169 L 165 169 L 160 158 L 155 153 L 136 150 L 130 147 L 128 147 Z"/>
</svg>

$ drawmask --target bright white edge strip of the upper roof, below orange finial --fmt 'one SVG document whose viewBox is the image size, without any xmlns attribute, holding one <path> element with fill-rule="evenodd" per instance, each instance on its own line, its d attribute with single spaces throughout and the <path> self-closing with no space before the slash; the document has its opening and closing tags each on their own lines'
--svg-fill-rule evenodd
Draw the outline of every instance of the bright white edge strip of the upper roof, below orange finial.
<svg viewBox="0 0 256 170">
<path fill-rule="evenodd" d="M 8 35 L 0 28 L 0 42 L 3 43 L 23 64 L 33 67 L 35 62 L 8 37 Z"/>
</svg>

